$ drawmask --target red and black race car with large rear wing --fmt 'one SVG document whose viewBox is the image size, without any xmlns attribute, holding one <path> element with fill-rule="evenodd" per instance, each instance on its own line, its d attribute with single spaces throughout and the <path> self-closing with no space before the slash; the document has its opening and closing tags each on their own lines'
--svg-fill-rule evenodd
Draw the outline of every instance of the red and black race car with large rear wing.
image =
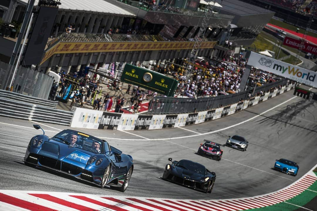
<svg viewBox="0 0 317 211">
<path fill-rule="evenodd" d="M 220 149 L 220 146 L 224 145 L 209 140 L 204 141 L 204 144 L 200 144 L 197 154 L 220 161 L 223 155 L 223 150 Z"/>
</svg>

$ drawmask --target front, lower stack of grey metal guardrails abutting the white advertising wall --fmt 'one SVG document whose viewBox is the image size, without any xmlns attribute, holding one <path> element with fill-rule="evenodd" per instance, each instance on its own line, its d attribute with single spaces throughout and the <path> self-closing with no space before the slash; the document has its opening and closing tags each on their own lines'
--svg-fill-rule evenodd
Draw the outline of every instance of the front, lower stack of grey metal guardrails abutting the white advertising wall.
<svg viewBox="0 0 317 211">
<path fill-rule="evenodd" d="M 70 125 L 73 112 L 0 97 L 0 116 Z"/>
</svg>

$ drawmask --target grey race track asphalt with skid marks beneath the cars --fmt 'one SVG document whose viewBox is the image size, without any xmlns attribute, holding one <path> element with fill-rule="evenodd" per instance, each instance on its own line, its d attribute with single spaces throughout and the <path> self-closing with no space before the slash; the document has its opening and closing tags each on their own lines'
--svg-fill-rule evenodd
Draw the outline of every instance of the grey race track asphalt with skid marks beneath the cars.
<svg viewBox="0 0 317 211">
<path fill-rule="evenodd" d="M 271 109 L 273 107 L 275 108 Z M 78 129 L 94 136 L 104 137 L 110 145 L 133 156 L 134 171 L 129 187 L 124 193 L 110 188 L 100 189 L 93 184 L 63 174 L 24 165 L 26 146 L 31 137 L 41 134 L 41 131 L 32 128 L 34 122 L 0 117 L 0 189 L 176 199 L 240 198 L 269 193 L 293 183 L 316 164 L 316 107 L 317 101 L 294 97 L 291 90 L 236 114 L 186 126 L 184 129 L 127 131 L 128 133 Z M 238 124 L 255 116 L 256 118 Z M 41 127 L 48 136 L 70 128 L 43 124 L 46 126 L 41 125 Z M 235 124 L 237 125 L 234 127 L 223 129 Z M 228 136 L 234 134 L 244 136 L 249 141 L 246 152 L 222 147 L 224 154 L 221 161 L 196 154 L 199 144 L 204 139 L 224 144 Z M 170 157 L 173 160 L 193 160 L 216 172 L 213 192 L 205 194 L 160 179 Z M 279 158 L 297 162 L 300 166 L 298 175 L 293 177 L 272 170 L 275 159 Z"/>
</svg>

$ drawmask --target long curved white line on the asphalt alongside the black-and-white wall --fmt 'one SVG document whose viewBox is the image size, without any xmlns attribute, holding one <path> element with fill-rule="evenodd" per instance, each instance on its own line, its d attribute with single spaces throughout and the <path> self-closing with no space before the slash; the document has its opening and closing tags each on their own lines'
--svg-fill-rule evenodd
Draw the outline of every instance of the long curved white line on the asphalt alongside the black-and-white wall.
<svg viewBox="0 0 317 211">
<path fill-rule="evenodd" d="M 211 134 L 211 133 L 218 133 L 218 132 L 220 132 L 220 131 L 230 129 L 230 128 L 236 127 L 236 126 L 238 126 L 238 125 L 242 125 L 242 124 L 244 124 L 244 123 L 246 123 L 246 122 L 248 122 L 248 121 L 251 121 L 251 120 L 253 120 L 253 119 L 255 119 L 255 118 L 259 117 L 259 116 L 262 116 L 263 114 L 265 114 L 265 113 L 267 113 L 267 112 L 269 112 L 269 111 L 271 111 L 271 110 L 273 110 L 273 109 L 275 109 L 275 108 L 277 108 L 277 107 L 279 107 L 279 106 L 281 106 L 281 105 L 283 105 L 283 104 L 285 104 L 285 103 L 287 103 L 287 102 L 293 100 L 293 99 L 296 98 L 296 97 L 297 97 L 297 96 L 294 96 L 294 97 L 288 99 L 287 101 L 284 101 L 284 102 L 282 102 L 282 103 L 280 103 L 280 104 L 278 104 L 278 105 L 276 105 L 276 106 L 274 106 L 274 107 L 272 107 L 272 108 L 270 108 L 270 109 L 268 109 L 268 110 L 262 112 L 261 114 L 255 115 L 254 117 L 251 117 L 251 118 L 249 118 L 249 119 L 247 119 L 247 120 L 244 120 L 244 121 L 242 121 L 242 122 L 239 122 L 239 123 L 236 123 L 236 124 L 234 124 L 234 125 L 230 125 L 230 126 L 228 126 L 228 127 L 224 127 L 224 128 L 221 128 L 221 129 L 218 129 L 218 130 L 215 130 L 215 131 L 210 131 L 210 132 L 207 132 L 207 133 L 200 133 L 200 134 L 195 134 L 195 135 L 189 135 L 189 136 L 172 137 L 172 138 L 162 138 L 162 139 L 148 139 L 148 140 L 150 140 L 150 141 L 174 140 L 174 139 L 184 139 L 184 138 L 192 138 L 192 137 L 197 137 L 197 136 L 202 136 L 202 135 L 208 135 L 208 134 Z M 101 138 L 101 139 L 113 139 L 113 140 L 129 140 L 129 141 L 140 141 L 140 140 L 142 140 L 142 139 L 120 139 L 120 138 L 100 137 L 100 136 L 99 136 L 98 138 Z"/>
</svg>

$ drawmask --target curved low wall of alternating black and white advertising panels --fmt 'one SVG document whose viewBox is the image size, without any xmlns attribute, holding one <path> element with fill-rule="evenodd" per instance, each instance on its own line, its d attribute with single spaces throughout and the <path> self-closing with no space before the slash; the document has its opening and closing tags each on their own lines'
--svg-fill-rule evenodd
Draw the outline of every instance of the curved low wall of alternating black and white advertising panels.
<svg viewBox="0 0 317 211">
<path fill-rule="evenodd" d="M 285 90 L 293 89 L 294 86 L 295 84 L 288 84 L 281 89 L 275 89 L 273 92 L 268 91 L 261 96 L 252 97 L 225 107 L 187 114 L 131 115 L 73 107 L 74 116 L 71 127 L 110 130 L 154 130 L 199 124 L 247 109 L 259 102 L 279 95 Z"/>
</svg>

